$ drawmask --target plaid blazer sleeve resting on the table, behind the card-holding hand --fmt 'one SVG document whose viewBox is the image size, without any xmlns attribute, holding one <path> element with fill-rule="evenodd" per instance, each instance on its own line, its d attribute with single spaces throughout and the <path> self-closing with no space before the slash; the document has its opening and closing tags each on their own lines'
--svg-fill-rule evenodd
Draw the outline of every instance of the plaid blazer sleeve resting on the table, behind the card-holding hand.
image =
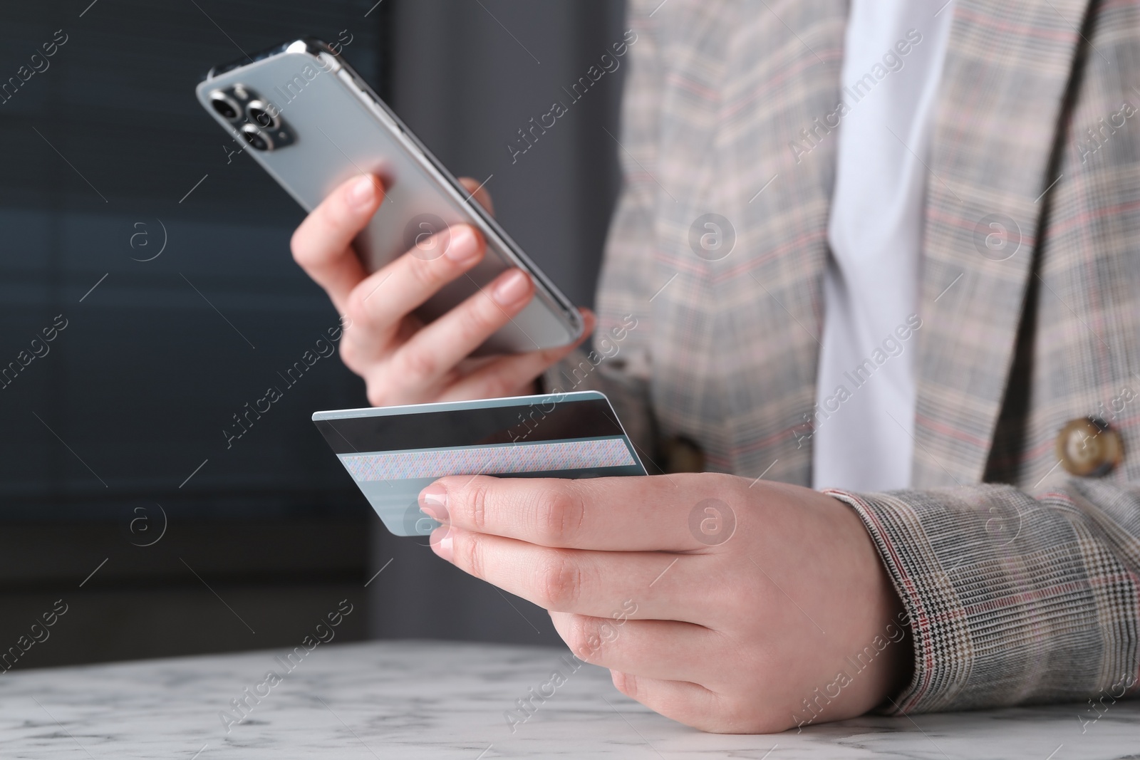
<svg viewBox="0 0 1140 760">
<path fill-rule="evenodd" d="M 1135 693 L 1140 485 L 829 492 L 863 518 L 910 613 L 914 677 L 888 712 Z"/>
</svg>

